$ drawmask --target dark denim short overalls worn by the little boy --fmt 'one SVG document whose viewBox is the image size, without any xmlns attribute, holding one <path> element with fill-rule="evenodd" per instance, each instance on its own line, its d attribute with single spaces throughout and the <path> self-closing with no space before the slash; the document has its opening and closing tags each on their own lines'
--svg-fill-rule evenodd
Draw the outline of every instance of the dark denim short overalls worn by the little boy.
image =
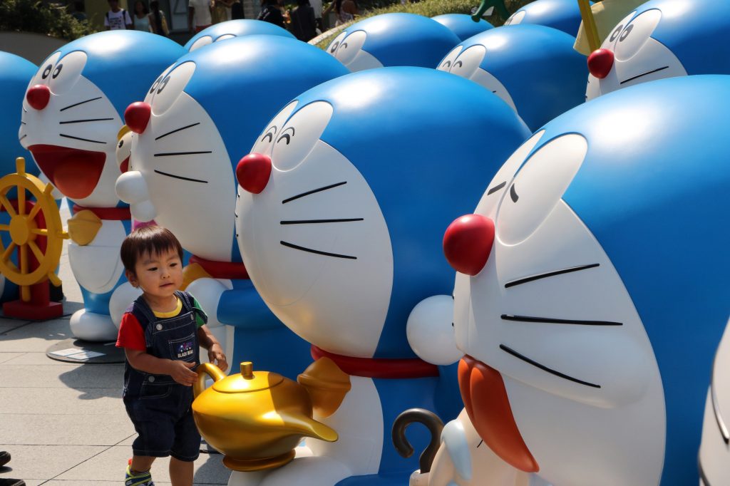
<svg viewBox="0 0 730 486">
<path fill-rule="evenodd" d="M 145 327 L 147 353 L 156 358 L 200 363 L 196 315 L 207 317 L 193 306 L 193 298 L 176 292 L 183 303 L 177 317 L 156 317 L 140 296 L 127 312 Z M 138 371 L 124 365 L 124 404 L 139 436 L 132 444 L 134 455 L 196 460 L 200 434 L 193 422 L 193 388 L 180 385 L 167 374 Z"/>
</svg>

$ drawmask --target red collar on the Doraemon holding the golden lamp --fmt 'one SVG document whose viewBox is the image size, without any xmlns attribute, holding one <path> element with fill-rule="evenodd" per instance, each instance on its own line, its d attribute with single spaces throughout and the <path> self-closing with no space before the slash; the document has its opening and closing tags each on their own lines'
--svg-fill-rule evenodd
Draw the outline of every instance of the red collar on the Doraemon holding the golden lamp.
<svg viewBox="0 0 730 486">
<path fill-rule="evenodd" d="M 426 363 L 420 358 L 354 358 L 336 355 L 312 344 L 312 358 L 318 360 L 326 356 L 339 366 L 339 369 L 355 377 L 366 378 L 425 378 L 439 376 L 436 365 Z"/>
</svg>

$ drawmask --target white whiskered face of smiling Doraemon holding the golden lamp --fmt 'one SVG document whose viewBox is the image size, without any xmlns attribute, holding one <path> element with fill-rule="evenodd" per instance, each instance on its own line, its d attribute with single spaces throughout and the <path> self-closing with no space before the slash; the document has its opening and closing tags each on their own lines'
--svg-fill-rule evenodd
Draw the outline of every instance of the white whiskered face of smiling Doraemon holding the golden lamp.
<svg viewBox="0 0 730 486">
<path fill-rule="evenodd" d="M 251 149 L 268 155 L 272 169 L 261 193 L 239 188 L 239 248 L 256 290 L 288 328 L 323 350 L 370 358 L 391 298 L 388 227 L 362 174 L 319 139 L 331 104 L 296 105 Z"/>
</svg>

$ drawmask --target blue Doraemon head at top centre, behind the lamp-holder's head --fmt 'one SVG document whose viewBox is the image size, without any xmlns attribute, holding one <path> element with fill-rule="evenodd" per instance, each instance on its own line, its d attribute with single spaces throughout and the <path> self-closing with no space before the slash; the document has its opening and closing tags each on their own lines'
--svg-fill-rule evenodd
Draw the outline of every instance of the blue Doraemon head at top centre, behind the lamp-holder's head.
<svg viewBox="0 0 730 486">
<path fill-rule="evenodd" d="M 352 72 L 388 66 L 432 68 L 458 41 L 436 20 L 388 13 L 353 23 L 330 42 L 327 52 Z"/>
</svg>

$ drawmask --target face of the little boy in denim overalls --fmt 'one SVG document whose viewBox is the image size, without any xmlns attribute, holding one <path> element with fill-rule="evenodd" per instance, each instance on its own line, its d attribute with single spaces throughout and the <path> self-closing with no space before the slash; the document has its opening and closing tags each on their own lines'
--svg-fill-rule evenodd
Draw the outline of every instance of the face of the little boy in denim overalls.
<svg viewBox="0 0 730 486">
<path fill-rule="evenodd" d="M 134 266 L 134 274 L 127 271 L 126 275 L 132 285 L 149 296 L 171 297 L 183 285 L 183 263 L 174 250 L 155 255 L 143 253 Z"/>
</svg>

